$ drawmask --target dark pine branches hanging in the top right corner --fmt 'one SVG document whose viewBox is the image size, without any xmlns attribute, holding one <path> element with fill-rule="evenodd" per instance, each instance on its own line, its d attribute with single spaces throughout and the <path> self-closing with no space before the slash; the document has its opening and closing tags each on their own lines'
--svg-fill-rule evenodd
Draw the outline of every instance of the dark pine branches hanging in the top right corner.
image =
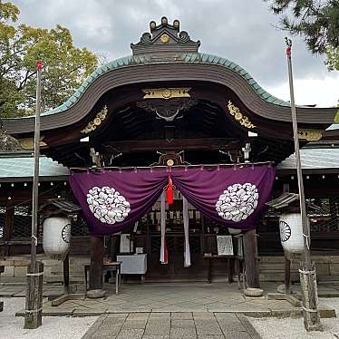
<svg viewBox="0 0 339 339">
<path fill-rule="evenodd" d="M 339 0 L 265 1 L 281 15 L 281 28 L 304 36 L 312 53 L 325 53 L 327 45 L 339 47 Z"/>
</svg>

